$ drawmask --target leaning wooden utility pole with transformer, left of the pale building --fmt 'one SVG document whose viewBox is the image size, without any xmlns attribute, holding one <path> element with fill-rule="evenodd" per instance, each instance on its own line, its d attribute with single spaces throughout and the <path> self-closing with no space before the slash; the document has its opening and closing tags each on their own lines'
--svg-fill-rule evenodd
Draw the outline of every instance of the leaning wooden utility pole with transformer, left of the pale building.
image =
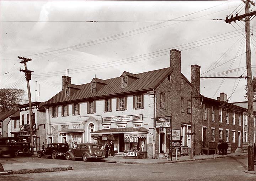
<svg viewBox="0 0 256 181">
<path fill-rule="evenodd" d="M 22 59 L 23 61 L 20 62 L 20 64 L 24 64 L 25 70 L 21 70 L 22 72 L 25 72 L 26 80 L 27 80 L 27 89 L 28 89 L 28 102 L 29 102 L 29 108 L 30 108 L 30 148 L 32 154 L 34 153 L 34 146 L 33 146 L 33 111 L 32 111 L 32 102 L 31 102 L 31 93 L 30 93 L 30 84 L 29 81 L 31 80 L 31 70 L 27 70 L 27 62 L 31 61 L 32 59 L 27 59 L 22 56 L 18 56 L 18 59 Z"/>
</svg>

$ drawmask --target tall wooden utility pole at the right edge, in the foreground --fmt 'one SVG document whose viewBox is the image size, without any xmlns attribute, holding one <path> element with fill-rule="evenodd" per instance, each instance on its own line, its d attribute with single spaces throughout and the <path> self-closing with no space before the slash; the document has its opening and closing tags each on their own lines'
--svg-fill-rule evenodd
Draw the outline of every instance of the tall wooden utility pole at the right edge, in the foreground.
<svg viewBox="0 0 256 181">
<path fill-rule="evenodd" d="M 231 21 L 242 20 L 245 18 L 245 39 L 246 39 L 246 69 L 247 69 L 247 86 L 248 86 L 248 171 L 254 171 L 254 135 L 253 135 L 253 92 L 252 92 L 252 73 L 251 73 L 251 47 L 250 47 L 250 16 L 255 15 L 256 11 L 249 12 L 250 4 L 255 6 L 254 2 L 247 0 L 245 3 L 245 14 L 235 17 L 231 15 L 231 18 L 226 17 L 225 22 L 231 23 Z M 244 20 L 242 20 L 244 21 Z"/>
</svg>

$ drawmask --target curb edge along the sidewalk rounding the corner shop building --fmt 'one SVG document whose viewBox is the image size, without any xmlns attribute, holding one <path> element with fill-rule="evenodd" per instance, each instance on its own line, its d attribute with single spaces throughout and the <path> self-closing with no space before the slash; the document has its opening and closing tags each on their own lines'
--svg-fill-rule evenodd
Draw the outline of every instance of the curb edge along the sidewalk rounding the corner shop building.
<svg viewBox="0 0 256 181">
<path fill-rule="evenodd" d="M 185 161 L 196 161 L 196 160 L 208 160 L 208 159 L 217 159 L 217 158 L 230 158 L 230 157 L 238 157 L 243 156 L 246 154 L 239 154 L 239 155 L 223 155 L 217 157 L 209 157 L 209 158 L 197 158 L 197 159 L 188 159 L 188 160 L 170 160 L 170 161 L 163 161 L 163 162 L 156 162 L 156 163 L 142 163 L 142 162 L 130 162 L 130 161 L 117 161 L 117 160 L 104 160 L 104 162 L 108 163 L 125 163 L 125 164 L 141 164 L 141 165 L 153 165 L 153 164 L 166 164 L 166 163 L 179 163 Z"/>
</svg>

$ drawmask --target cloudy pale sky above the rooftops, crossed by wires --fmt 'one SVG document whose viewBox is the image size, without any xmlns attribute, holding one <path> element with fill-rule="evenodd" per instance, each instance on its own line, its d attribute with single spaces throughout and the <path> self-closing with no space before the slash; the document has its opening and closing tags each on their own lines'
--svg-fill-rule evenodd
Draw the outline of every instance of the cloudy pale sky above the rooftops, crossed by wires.
<svg viewBox="0 0 256 181">
<path fill-rule="evenodd" d="M 255 2 L 255 1 L 254 1 Z M 250 7 L 255 11 L 255 6 Z M 181 72 L 191 65 L 201 77 L 246 76 L 245 22 L 225 23 L 245 13 L 242 1 L 0 1 L 0 87 L 21 88 L 28 99 L 18 56 L 31 58 L 32 102 L 47 101 L 72 84 L 170 66 L 181 51 Z M 251 17 L 251 64 L 255 76 L 255 16 Z M 245 78 L 201 78 L 200 93 L 245 101 Z M 40 95 L 39 95 L 40 93 Z"/>
</svg>

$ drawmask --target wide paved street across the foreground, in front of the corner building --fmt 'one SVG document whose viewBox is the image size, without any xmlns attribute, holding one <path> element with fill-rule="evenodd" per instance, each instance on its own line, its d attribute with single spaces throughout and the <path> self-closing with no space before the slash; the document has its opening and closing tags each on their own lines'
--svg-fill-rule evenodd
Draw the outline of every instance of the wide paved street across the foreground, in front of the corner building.
<svg viewBox="0 0 256 181">
<path fill-rule="evenodd" d="M 1 176 L 3 180 L 255 180 L 244 172 L 247 156 L 171 164 L 118 164 L 102 162 L 52 160 L 17 157 L 1 159 L 1 163 L 54 163 L 70 165 L 73 170 Z"/>
</svg>

